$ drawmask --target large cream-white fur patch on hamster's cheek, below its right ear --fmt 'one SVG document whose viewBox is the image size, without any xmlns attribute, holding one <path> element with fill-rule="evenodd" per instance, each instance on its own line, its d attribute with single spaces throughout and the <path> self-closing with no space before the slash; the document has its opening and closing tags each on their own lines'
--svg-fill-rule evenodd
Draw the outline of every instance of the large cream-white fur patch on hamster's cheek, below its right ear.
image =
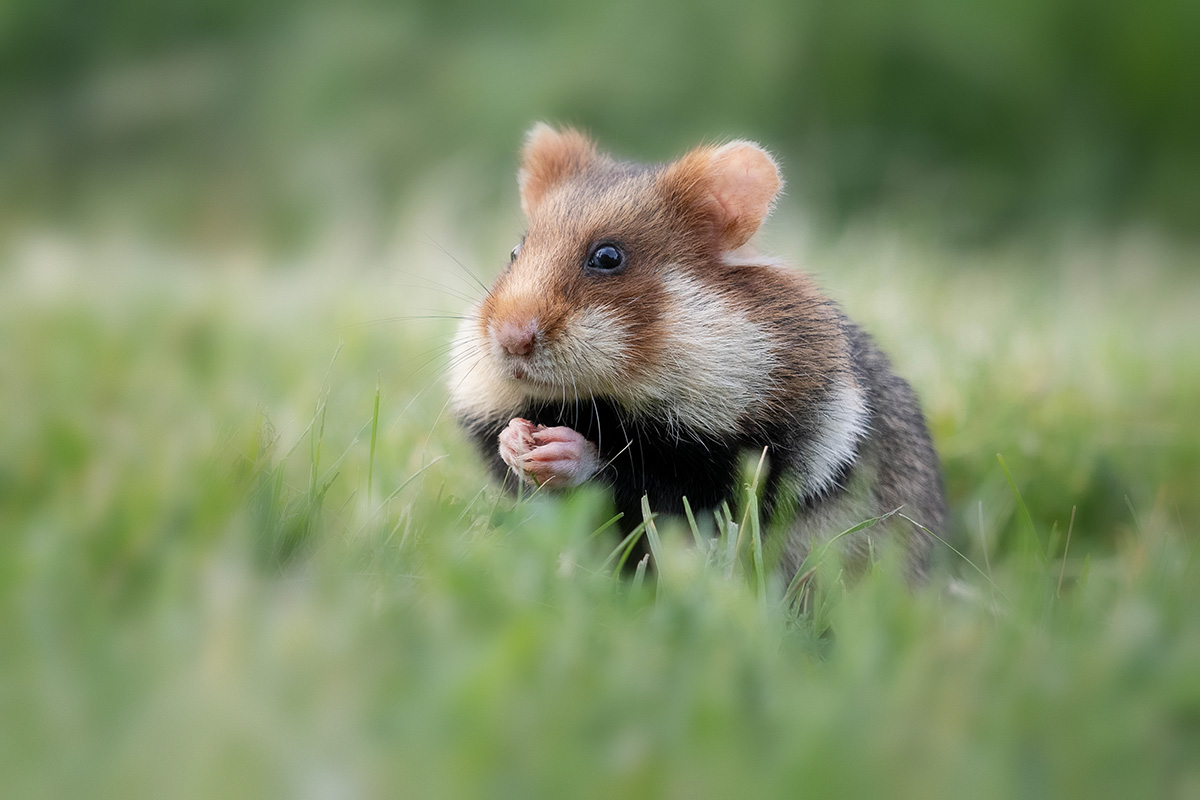
<svg viewBox="0 0 1200 800">
<path fill-rule="evenodd" d="M 680 273 L 664 278 L 661 355 L 650 377 L 618 398 L 666 417 L 671 429 L 728 434 L 768 401 L 775 343 L 719 290 Z"/>
</svg>

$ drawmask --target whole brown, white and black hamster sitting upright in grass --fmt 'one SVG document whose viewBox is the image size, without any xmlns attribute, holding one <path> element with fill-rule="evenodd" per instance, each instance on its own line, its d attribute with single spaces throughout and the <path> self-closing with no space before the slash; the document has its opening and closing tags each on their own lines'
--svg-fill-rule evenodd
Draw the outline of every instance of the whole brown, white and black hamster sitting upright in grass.
<svg viewBox="0 0 1200 800">
<path fill-rule="evenodd" d="M 528 230 L 458 329 L 451 408 L 514 486 L 607 486 L 626 530 L 736 499 L 767 449 L 761 513 L 788 579 L 814 541 L 899 507 L 938 536 L 944 500 L 917 398 L 871 338 L 748 241 L 782 188 L 751 142 L 665 166 L 535 125 L 518 173 Z M 845 537 L 862 565 L 898 537 L 910 578 L 932 537 L 900 517 Z M 877 545 L 877 542 L 875 542 Z"/>
</svg>

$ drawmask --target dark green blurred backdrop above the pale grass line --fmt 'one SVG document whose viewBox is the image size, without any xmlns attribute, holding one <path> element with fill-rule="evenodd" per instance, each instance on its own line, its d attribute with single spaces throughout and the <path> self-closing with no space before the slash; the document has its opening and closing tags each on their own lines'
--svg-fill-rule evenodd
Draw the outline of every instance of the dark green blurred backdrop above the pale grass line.
<svg viewBox="0 0 1200 800">
<path fill-rule="evenodd" d="M 479 184 L 464 206 L 506 198 L 536 119 L 643 160 L 760 138 L 834 224 L 881 207 L 964 241 L 1200 224 L 1189 0 L 11 0 L 0 14 L 10 224 L 126 213 L 191 239 L 292 241 L 349 205 L 386 229 L 448 160 Z"/>
</svg>

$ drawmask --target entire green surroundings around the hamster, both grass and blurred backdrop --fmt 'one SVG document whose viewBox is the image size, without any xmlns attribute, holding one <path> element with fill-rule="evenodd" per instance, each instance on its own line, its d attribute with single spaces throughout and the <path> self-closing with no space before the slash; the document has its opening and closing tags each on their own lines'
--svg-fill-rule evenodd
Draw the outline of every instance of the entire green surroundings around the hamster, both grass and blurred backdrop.
<svg viewBox="0 0 1200 800">
<path fill-rule="evenodd" d="M 0 5 L 0 795 L 1200 795 L 1198 30 Z M 797 613 L 667 521 L 622 577 L 494 491 L 440 373 L 535 120 L 779 154 L 764 247 L 922 396 L 929 587 Z"/>
</svg>

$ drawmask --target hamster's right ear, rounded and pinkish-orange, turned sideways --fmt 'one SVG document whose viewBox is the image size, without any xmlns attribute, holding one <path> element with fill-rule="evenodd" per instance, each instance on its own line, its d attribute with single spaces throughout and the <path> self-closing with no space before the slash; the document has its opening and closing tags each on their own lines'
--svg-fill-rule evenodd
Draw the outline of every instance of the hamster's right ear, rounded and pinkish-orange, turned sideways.
<svg viewBox="0 0 1200 800">
<path fill-rule="evenodd" d="M 770 213 L 784 179 L 775 160 L 754 142 L 697 148 L 667 167 L 668 197 L 697 206 L 713 219 L 721 245 L 746 243 Z"/>
</svg>

